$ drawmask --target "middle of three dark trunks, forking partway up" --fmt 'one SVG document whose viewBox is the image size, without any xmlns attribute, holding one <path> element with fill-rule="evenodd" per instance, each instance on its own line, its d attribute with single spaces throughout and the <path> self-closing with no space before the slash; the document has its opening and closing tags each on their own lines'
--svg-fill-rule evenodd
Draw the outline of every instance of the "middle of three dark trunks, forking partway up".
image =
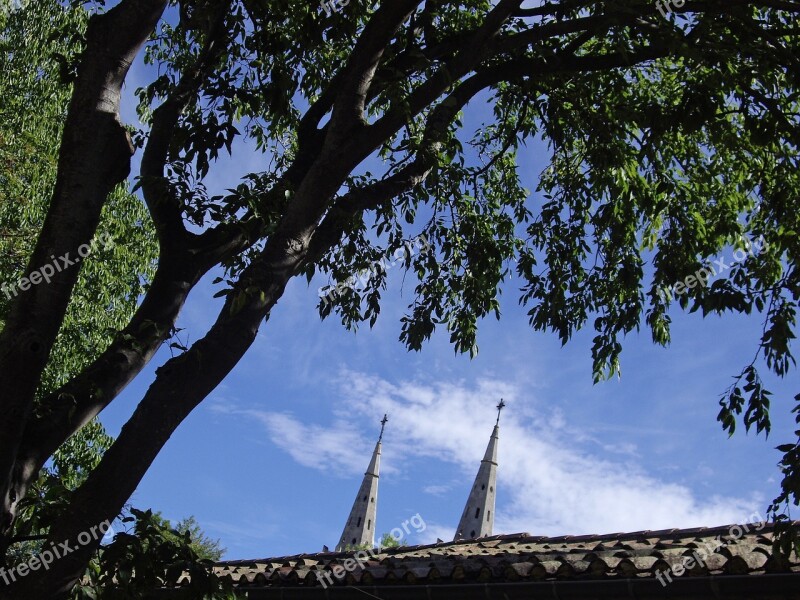
<svg viewBox="0 0 800 600">
<path fill-rule="evenodd" d="M 175 93 L 156 111 L 156 124 L 145 150 L 142 169 L 153 179 L 156 178 L 153 172 L 163 171 L 169 140 L 180 112 L 195 96 L 220 53 L 227 9 L 228 4 L 218 5 L 196 67 L 182 78 Z M 183 228 L 180 205 L 154 198 L 152 184 L 143 187 L 150 200 L 149 208 L 161 245 L 161 260 L 152 285 L 131 322 L 117 334 L 109 348 L 40 403 L 20 444 L 12 484 L 17 497 L 25 493 L 58 446 L 97 416 L 150 361 L 170 335 L 197 281 L 220 259 L 240 252 L 260 235 L 261 224 L 255 219 L 201 236 L 189 235 Z"/>
</svg>

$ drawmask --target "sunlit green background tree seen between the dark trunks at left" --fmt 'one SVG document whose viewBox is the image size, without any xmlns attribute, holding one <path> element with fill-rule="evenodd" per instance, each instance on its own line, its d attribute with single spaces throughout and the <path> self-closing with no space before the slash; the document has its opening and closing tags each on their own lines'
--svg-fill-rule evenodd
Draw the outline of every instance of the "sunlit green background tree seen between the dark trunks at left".
<svg viewBox="0 0 800 600">
<path fill-rule="evenodd" d="M 74 77 L 70 65 L 87 21 L 84 10 L 62 7 L 56 0 L 26 3 L 18 10 L 7 2 L 0 6 L 0 326 L 19 294 L 24 259 L 33 250 L 47 214 L 70 99 L 69 81 Z M 31 114 L 38 118 L 30 118 Z M 34 410 L 44 396 L 80 373 L 124 327 L 152 274 L 156 246 L 147 211 L 123 187 L 109 195 L 96 239 L 107 243 L 97 245 L 84 260 L 52 358 L 42 373 Z M 50 270 L 55 271 L 52 263 L 45 274 Z M 99 422 L 90 421 L 60 445 L 49 466 L 39 468 L 38 474 L 31 472 L 34 479 L 18 503 L 19 518 L 10 535 L 0 538 L 2 564 L 13 566 L 40 549 L 70 492 L 97 466 L 111 441 Z M 13 545 L 7 554 L 9 543 Z"/>
</svg>

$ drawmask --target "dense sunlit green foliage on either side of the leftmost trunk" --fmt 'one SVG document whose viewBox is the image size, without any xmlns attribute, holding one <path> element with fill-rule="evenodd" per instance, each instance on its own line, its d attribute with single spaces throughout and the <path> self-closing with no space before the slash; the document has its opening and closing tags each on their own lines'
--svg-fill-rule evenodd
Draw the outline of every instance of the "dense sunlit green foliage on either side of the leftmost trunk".
<svg viewBox="0 0 800 600">
<path fill-rule="evenodd" d="M 87 20 L 82 9 L 57 0 L 0 10 L 0 325 L 19 293 L 15 284 L 25 274 L 53 193 L 69 82 Z M 95 239 L 106 243 L 96 244 L 82 263 L 40 396 L 108 345 L 152 277 L 157 248 L 147 209 L 122 186 L 108 197 Z"/>
</svg>

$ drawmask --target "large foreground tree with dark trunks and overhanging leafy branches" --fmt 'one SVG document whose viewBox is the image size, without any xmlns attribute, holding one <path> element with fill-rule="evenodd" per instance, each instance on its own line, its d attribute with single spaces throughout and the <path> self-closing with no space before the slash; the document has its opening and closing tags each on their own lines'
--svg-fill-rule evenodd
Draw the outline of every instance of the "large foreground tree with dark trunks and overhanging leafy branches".
<svg viewBox="0 0 800 600">
<path fill-rule="evenodd" d="M 417 278 L 401 326 L 408 348 L 438 326 L 474 354 L 477 323 L 499 316 L 498 287 L 514 269 L 534 329 L 566 342 L 594 327 L 598 380 L 618 373 L 625 334 L 645 325 L 669 343 L 670 307 L 757 313 L 760 361 L 723 396 L 720 420 L 769 431 L 758 367 L 782 377 L 794 365 L 800 297 L 800 5 L 522 4 L 392 0 L 331 11 L 307 0 L 121 0 L 93 9 L 25 274 L 92 240 L 135 148 L 158 267 L 131 320 L 38 402 L 80 265 L 12 299 L 0 333 L 0 534 L 47 457 L 169 339 L 209 270 L 225 269 L 216 322 L 161 365 L 49 541 L 75 540 L 120 512 L 291 278 L 341 284 L 419 234 L 428 251 L 405 259 Z M 147 128 L 132 145 L 120 90 L 145 45 L 158 68 L 139 95 Z M 486 122 L 467 130 L 465 107 L 486 100 Z M 531 195 L 515 157 L 537 138 L 550 164 Z M 262 169 L 210 197 L 203 181 L 234 143 L 263 153 Z M 748 252 L 754 242 L 760 250 Z M 727 249 L 742 260 L 712 271 Z M 373 324 L 386 273 L 372 271 L 363 287 L 337 285 L 320 316 Z M 781 450 L 778 515 L 800 494 L 800 446 Z M 0 597 L 63 597 L 95 547 Z"/>
</svg>

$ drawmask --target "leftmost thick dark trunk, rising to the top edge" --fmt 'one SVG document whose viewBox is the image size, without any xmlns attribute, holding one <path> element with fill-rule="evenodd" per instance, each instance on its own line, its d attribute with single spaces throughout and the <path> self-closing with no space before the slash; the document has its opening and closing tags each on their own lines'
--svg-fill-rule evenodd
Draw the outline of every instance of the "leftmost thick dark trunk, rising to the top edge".
<svg viewBox="0 0 800 600">
<path fill-rule="evenodd" d="M 26 276 L 54 257 L 74 258 L 94 236 L 106 197 L 127 177 L 133 149 L 118 120 L 120 90 L 165 4 L 166 0 L 123 0 L 90 20 L 55 190 Z M 49 283 L 21 290 L 0 333 L 0 535 L 7 534 L 18 500 L 11 480 L 23 427 L 78 273 L 79 266 L 64 268 Z"/>
</svg>

